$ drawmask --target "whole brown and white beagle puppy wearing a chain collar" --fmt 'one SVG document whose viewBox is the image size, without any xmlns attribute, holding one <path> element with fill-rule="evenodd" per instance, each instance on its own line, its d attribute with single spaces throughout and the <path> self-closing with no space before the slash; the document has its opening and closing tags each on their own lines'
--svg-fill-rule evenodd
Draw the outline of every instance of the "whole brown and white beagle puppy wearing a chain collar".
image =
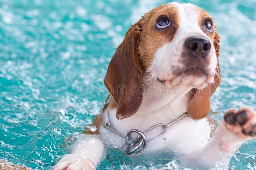
<svg viewBox="0 0 256 170">
<path fill-rule="evenodd" d="M 109 63 L 110 100 L 102 114 L 53 169 L 95 169 L 109 145 L 131 159 L 175 154 L 190 168 L 214 167 L 228 155 L 227 168 L 237 148 L 256 137 L 256 112 L 228 110 L 211 138 L 206 117 L 221 80 L 219 39 L 213 19 L 193 4 L 162 4 L 146 13 Z"/>
</svg>

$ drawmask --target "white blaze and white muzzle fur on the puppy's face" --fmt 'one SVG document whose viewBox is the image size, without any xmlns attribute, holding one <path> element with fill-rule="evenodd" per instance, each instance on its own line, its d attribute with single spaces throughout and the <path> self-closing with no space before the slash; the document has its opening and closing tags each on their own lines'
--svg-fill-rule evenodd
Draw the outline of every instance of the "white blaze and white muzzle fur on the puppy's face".
<svg viewBox="0 0 256 170">
<path fill-rule="evenodd" d="M 165 43 L 162 47 L 158 48 L 155 53 L 155 59 L 147 72 L 150 72 L 153 77 L 161 80 L 172 80 L 175 77 L 173 74 L 174 70 L 172 70 L 173 67 L 187 67 L 181 62 L 181 54 L 184 50 L 185 41 L 190 37 L 202 36 L 209 39 L 211 42 L 211 50 L 208 54 L 208 57 L 210 57 L 210 64 L 205 69 L 209 70 L 208 74 L 212 77 L 189 76 L 190 78 L 184 78 L 178 76 L 175 80 L 173 79 L 173 81 L 191 83 L 196 86 L 199 86 L 202 83 L 207 84 L 207 82 L 212 83 L 214 80 L 213 75 L 215 74 L 217 58 L 212 40 L 201 30 L 201 26 L 199 25 L 199 11 L 197 7 L 193 4 L 170 3 L 170 5 L 177 6 L 179 14 L 179 28 L 176 30 L 171 42 Z M 193 83 L 192 81 L 196 81 L 196 83 Z"/>
</svg>

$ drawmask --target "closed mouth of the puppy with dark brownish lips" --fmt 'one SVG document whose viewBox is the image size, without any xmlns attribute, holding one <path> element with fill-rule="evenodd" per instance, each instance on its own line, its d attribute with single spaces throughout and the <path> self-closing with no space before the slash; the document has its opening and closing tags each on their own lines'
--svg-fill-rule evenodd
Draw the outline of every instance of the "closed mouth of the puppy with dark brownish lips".
<svg viewBox="0 0 256 170">
<path fill-rule="evenodd" d="M 157 81 L 159 81 L 160 83 L 164 83 L 166 81 L 172 81 L 173 79 L 175 79 L 176 77 L 188 77 L 188 76 L 194 76 L 194 77 L 210 77 L 207 73 L 207 71 L 200 66 L 196 66 L 196 67 L 190 67 L 187 68 L 185 70 L 179 71 L 178 73 L 176 73 L 172 79 L 160 79 L 157 78 Z"/>
</svg>

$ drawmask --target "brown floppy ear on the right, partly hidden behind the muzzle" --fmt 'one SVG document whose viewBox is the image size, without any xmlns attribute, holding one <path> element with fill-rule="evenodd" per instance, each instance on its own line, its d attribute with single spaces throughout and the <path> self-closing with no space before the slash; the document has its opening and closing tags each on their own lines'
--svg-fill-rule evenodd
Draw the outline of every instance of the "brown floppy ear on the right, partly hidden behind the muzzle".
<svg viewBox="0 0 256 170">
<path fill-rule="evenodd" d="M 188 115 L 195 120 L 202 119 L 206 117 L 210 112 L 210 97 L 212 96 L 213 92 L 216 88 L 220 85 L 220 63 L 219 63 L 219 56 L 220 56 L 220 36 L 216 32 L 213 44 L 215 46 L 216 55 L 217 55 L 217 67 L 216 67 L 216 74 L 214 76 L 214 83 L 209 84 L 203 90 L 200 89 L 192 89 L 192 93 L 194 94 L 188 103 Z"/>
</svg>

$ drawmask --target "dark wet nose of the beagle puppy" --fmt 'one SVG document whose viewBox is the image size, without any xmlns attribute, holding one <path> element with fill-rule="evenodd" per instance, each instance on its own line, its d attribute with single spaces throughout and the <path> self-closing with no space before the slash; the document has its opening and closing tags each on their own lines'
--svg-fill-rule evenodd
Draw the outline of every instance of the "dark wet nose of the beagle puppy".
<svg viewBox="0 0 256 170">
<path fill-rule="evenodd" d="M 190 37 L 185 42 L 187 50 L 197 58 L 205 57 L 210 49 L 211 43 L 204 37 Z"/>
</svg>

